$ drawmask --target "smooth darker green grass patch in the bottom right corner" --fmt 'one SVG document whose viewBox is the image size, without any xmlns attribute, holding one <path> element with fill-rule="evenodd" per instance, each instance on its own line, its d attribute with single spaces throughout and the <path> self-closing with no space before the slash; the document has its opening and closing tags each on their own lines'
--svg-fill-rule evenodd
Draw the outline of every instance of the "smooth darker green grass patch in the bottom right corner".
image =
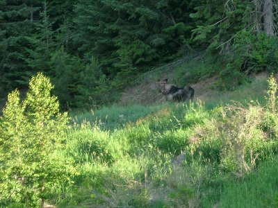
<svg viewBox="0 0 278 208">
<path fill-rule="evenodd" d="M 278 207 L 277 164 L 271 159 L 247 177 L 224 184 L 220 207 Z"/>
</svg>

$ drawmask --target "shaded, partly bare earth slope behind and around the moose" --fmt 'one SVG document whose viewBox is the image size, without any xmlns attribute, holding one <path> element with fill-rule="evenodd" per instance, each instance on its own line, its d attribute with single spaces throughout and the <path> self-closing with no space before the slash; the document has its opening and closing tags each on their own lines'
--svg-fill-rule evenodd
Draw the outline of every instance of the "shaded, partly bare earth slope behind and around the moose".
<svg viewBox="0 0 278 208">
<path fill-rule="evenodd" d="M 163 94 L 158 90 L 157 83 L 157 80 L 164 80 L 165 78 L 168 78 L 170 84 L 178 87 L 188 85 L 193 87 L 195 89 L 195 101 L 199 99 L 205 102 L 214 100 L 215 103 L 221 103 L 222 101 L 227 103 L 229 100 L 243 101 L 242 98 L 250 101 L 252 99 L 256 100 L 256 98 L 261 99 L 265 94 L 266 88 L 263 89 L 262 82 L 269 76 L 269 73 L 266 72 L 250 76 L 251 84 L 245 83 L 244 90 L 240 86 L 235 86 L 233 90 L 220 91 L 219 87 L 215 87 L 215 83 L 219 82 L 219 75 L 214 75 L 217 70 L 213 69 L 219 67 L 217 62 L 212 64 L 211 59 L 205 58 L 204 55 L 198 55 L 194 58 L 186 57 L 163 67 L 158 67 L 142 74 L 136 80 L 137 85 L 126 87 L 124 92 L 121 93 L 119 105 L 152 105 L 165 102 Z M 204 68 L 207 69 L 204 70 Z M 221 69 L 218 70 L 221 71 Z M 235 90 L 236 92 L 234 92 Z"/>
</svg>

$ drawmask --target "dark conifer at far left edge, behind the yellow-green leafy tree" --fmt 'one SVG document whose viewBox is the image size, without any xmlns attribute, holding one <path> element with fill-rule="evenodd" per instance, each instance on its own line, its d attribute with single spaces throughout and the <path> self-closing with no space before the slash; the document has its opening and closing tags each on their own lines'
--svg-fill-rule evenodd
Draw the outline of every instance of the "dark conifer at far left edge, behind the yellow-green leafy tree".
<svg viewBox="0 0 278 208">
<path fill-rule="evenodd" d="M 26 86 L 32 71 L 26 63 L 32 49 L 28 36 L 34 31 L 41 1 L 1 1 L 0 3 L 0 85 L 4 91 Z"/>
</svg>

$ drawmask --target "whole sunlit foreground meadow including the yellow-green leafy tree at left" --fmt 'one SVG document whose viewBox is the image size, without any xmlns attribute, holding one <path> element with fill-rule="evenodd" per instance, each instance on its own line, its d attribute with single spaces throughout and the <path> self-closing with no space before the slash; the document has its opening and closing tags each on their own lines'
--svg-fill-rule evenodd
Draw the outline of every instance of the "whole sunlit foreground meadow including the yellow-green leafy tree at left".
<svg viewBox="0 0 278 208">
<path fill-rule="evenodd" d="M 277 89 L 256 76 L 206 101 L 68 117 L 40 73 L 3 110 L 0 206 L 277 207 Z"/>
</svg>

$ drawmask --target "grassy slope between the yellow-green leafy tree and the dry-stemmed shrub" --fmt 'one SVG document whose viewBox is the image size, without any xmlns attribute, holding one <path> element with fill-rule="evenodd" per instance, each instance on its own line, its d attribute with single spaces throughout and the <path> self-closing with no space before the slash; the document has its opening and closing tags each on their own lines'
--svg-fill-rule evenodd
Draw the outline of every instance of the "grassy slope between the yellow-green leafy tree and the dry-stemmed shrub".
<svg viewBox="0 0 278 208">
<path fill-rule="evenodd" d="M 187 65 L 177 69 L 173 79 L 181 78 L 183 67 Z M 211 91 L 205 105 L 113 105 L 72 114 L 66 153 L 80 175 L 60 206 L 277 206 L 277 159 L 262 159 L 266 162 L 254 173 L 235 177 L 233 171 L 223 172 L 218 141 L 209 140 L 214 138 L 211 119 L 219 105 L 238 101 L 248 106 L 251 100 L 264 105 L 266 87 L 266 76 L 257 76 L 232 92 Z M 195 137 L 208 140 L 190 146 Z M 181 152 L 188 153 L 185 164 L 174 168 L 174 158 Z"/>
</svg>

